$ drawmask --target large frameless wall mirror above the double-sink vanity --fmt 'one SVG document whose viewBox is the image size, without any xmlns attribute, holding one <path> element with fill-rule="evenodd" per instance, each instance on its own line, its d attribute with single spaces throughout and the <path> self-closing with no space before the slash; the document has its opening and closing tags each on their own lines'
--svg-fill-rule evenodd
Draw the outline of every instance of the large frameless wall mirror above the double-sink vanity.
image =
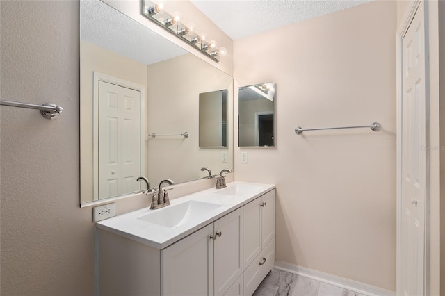
<svg viewBox="0 0 445 296">
<path fill-rule="evenodd" d="M 225 147 L 199 143 L 200 94 L 227 90 L 232 110 L 231 76 L 99 0 L 80 1 L 80 55 L 81 206 L 145 189 L 139 176 L 157 187 L 233 168 L 230 126 Z"/>
</svg>

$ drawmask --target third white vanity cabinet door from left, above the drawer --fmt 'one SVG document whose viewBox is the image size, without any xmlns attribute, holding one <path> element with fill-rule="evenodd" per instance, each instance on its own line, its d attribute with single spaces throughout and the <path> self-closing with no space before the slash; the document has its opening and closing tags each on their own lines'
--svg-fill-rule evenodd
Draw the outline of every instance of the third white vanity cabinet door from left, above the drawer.
<svg viewBox="0 0 445 296">
<path fill-rule="evenodd" d="M 261 252 L 261 197 L 243 206 L 243 261 L 244 270 Z"/>
</svg>

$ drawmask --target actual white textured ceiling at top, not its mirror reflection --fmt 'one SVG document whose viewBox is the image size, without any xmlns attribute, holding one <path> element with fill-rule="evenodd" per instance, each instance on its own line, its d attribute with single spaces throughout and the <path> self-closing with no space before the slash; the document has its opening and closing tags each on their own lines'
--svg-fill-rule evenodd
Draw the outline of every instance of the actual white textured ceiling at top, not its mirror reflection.
<svg viewBox="0 0 445 296">
<path fill-rule="evenodd" d="M 371 0 L 191 0 L 232 40 L 327 15 Z"/>
</svg>

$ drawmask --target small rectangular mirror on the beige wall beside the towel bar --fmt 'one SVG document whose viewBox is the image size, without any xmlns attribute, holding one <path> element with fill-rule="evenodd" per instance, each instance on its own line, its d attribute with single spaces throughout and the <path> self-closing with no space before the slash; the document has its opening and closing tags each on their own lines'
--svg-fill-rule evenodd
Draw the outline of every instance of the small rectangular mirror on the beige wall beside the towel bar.
<svg viewBox="0 0 445 296">
<path fill-rule="evenodd" d="M 239 147 L 275 147 L 275 83 L 238 88 Z"/>
</svg>

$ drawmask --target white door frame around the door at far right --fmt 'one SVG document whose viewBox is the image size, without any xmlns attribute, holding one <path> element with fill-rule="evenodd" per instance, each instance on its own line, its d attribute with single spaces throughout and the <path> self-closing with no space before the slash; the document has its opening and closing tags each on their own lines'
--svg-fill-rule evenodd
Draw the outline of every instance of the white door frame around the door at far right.
<svg viewBox="0 0 445 296">
<path fill-rule="evenodd" d="M 403 222 L 402 215 L 402 95 L 403 95 L 403 38 L 407 33 L 408 28 L 414 15 L 416 15 L 417 8 L 420 5 L 424 6 L 424 27 L 425 27 L 425 136 L 426 146 L 430 143 L 430 75 L 429 75 L 429 47 L 428 47 L 428 1 L 413 0 L 407 8 L 407 12 L 403 17 L 401 26 L 396 32 L 396 122 L 397 122 L 397 136 L 396 136 L 396 294 L 401 293 L 401 226 Z M 425 179 L 425 252 L 424 256 L 424 285 L 423 295 L 430 294 L 430 153 L 426 148 L 426 179 Z"/>
</svg>

